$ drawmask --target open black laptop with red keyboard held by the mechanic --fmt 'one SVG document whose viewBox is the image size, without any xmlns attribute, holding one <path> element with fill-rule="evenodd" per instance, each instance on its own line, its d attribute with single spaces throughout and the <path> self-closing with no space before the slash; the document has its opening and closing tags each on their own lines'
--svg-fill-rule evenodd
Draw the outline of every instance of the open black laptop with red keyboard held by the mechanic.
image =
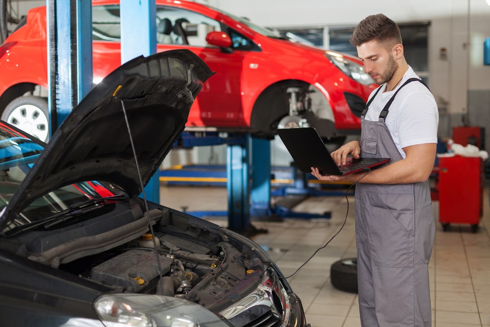
<svg viewBox="0 0 490 327">
<path fill-rule="evenodd" d="M 347 158 L 345 165 L 337 166 L 314 127 L 279 128 L 277 134 L 303 173 L 311 173 L 311 167 L 317 167 L 322 175 L 347 175 L 390 161 L 390 158 Z"/>
</svg>

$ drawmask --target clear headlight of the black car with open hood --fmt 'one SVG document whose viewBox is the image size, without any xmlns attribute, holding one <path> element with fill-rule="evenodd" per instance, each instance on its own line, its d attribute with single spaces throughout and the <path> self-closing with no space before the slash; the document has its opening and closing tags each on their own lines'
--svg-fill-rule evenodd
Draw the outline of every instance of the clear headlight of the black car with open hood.
<svg viewBox="0 0 490 327">
<path fill-rule="evenodd" d="M 107 327 L 231 326 L 196 303 L 159 295 L 102 295 L 94 302 L 94 308 Z"/>
</svg>

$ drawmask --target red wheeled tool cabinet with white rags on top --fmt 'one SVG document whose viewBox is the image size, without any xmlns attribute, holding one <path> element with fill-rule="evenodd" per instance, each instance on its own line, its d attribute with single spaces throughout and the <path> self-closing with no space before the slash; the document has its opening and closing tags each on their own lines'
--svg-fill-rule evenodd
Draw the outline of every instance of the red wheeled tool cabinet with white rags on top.
<svg viewBox="0 0 490 327">
<path fill-rule="evenodd" d="M 439 221 L 470 224 L 476 232 L 483 216 L 483 161 L 480 157 L 439 158 Z"/>
</svg>

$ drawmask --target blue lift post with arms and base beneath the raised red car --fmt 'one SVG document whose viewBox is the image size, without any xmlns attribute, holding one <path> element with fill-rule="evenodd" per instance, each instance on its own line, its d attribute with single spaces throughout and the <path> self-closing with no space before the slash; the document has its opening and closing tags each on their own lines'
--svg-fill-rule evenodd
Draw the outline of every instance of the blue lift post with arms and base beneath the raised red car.
<svg viewBox="0 0 490 327">
<path fill-rule="evenodd" d="M 217 178 L 219 172 L 212 173 L 211 183 L 226 182 L 228 211 L 192 211 L 197 217 L 228 216 L 228 228 L 242 232 L 256 232 L 250 224 L 251 216 L 269 218 L 330 218 L 330 212 L 323 214 L 294 212 L 290 208 L 311 195 L 332 195 L 308 187 L 306 175 L 302 186 L 282 187 L 274 192 L 270 189 L 270 140 L 255 138 L 250 134 L 190 133 L 184 131 L 174 148 L 192 148 L 226 144 L 226 178 Z M 294 174 L 295 169 L 293 169 Z M 175 180 L 175 179 L 174 179 Z M 251 182 L 250 182 L 251 180 Z M 277 196 L 294 195 L 271 205 L 271 193 Z M 344 193 L 342 193 L 344 194 Z M 297 195 L 301 195 L 298 199 Z"/>
</svg>

